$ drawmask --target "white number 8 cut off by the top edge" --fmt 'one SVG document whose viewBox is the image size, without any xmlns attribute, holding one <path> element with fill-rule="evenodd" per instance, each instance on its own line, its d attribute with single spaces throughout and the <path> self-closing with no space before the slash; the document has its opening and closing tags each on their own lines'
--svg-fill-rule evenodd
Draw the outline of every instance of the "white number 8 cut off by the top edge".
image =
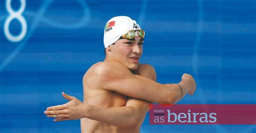
<svg viewBox="0 0 256 133">
<path fill-rule="evenodd" d="M 11 0 L 6 0 L 6 9 L 10 13 L 10 16 L 8 19 L 6 19 L 6 21 L 4 23 L 4 33 L 6 35 L 6 38 L 8 38 L 12 42 L 21 41 L 24 38 L 24 36 L 26 35 L 26 20 L 22 16 L 22 12 L 25 10 L 25 6 L 26 6 L 25 0 L 21 0 L 21 8 L 19 8 L 19 10 L 17 12 L 15 12 L 11 8 Z M 13 19 L 19 20 L 19 22 L 21 23 L 21 26 L 22 26 L 22 31 L 17 36 L 12 35 L 9 31 L 9 25 Z"/>
</svg>

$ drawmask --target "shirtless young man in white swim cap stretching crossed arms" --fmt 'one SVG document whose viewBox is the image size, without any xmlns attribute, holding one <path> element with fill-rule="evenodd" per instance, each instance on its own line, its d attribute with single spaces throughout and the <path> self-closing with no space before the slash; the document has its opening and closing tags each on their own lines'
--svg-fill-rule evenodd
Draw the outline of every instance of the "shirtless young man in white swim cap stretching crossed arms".
<svg viewBox="0 0 256 133">
<path fill-rule="evenodd" d="M 148 101 L 174 104 L 193 94 L 192 76 L 184 74 L 179 84 L 159 84 L 153 67 L 139 64 L 144 35 L 131 18 L 111 18 L 104 31 L 105 60 L 83 78 L 84 102 L 63 93 L 70 101 L 47 108 L 45 114 L 57 117 L 55 121 L 81 119 L 82 132 L 139 132 Z"/>
</svg>

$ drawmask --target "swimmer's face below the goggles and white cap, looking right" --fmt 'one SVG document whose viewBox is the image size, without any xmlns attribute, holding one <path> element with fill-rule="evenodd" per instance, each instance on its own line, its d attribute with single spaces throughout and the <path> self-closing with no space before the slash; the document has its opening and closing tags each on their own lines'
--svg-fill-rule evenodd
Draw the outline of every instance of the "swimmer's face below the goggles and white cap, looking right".
<svg viewBox="0 0 256 133">
<path fill-rule="evenodd" d="M 134 36 L 132 39 L 119 39 L 111 48 L 114 60 L 122 63 L 130 70 L 138 68 L 140 56 L 142 56 L 143 38 Z"/>
</svg>

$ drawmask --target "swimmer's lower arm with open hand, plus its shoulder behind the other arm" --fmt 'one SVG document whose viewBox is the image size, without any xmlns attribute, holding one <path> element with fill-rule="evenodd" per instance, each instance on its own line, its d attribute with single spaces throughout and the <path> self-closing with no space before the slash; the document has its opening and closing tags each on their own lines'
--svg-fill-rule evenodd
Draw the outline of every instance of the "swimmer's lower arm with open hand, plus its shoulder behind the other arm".
<svg viewBox="0 0 256 133">
<path fill-rule="evenodd" d="M 138 74 L 156 80 L 156 72 L 150 65 L 144 64 L 143 67 L 139 68 Z M 85 104 L 64 93 L 63 97 L 70 101 L 64 105 L 49 107 L 45 111 L 48 117 L 58 117 L 55 121 L 87 117 L 117 127 L 133 127 L 142 124 L 150 104 L 150 102 L 142 99 L 129 98 L 124 107 L 102 108 Z"/>
</svg>

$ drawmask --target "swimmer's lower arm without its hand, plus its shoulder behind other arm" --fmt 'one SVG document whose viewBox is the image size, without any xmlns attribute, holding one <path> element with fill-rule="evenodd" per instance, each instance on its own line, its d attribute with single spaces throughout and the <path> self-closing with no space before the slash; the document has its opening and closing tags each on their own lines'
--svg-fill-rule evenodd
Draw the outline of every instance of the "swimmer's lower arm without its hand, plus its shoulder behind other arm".
<svg viewBox="0 0 256 133">
<path fill-rule="evenodd" d="M 140 64 L 138 75 L 156 81 L 156 71 L 151 65 Z M 150 103 L 142 99 L 129 98 L 124 107 L 102 108 L 91 106 L 86 117 L 117 127 L 134 127 L 142 124 Z"/>
</svg>

